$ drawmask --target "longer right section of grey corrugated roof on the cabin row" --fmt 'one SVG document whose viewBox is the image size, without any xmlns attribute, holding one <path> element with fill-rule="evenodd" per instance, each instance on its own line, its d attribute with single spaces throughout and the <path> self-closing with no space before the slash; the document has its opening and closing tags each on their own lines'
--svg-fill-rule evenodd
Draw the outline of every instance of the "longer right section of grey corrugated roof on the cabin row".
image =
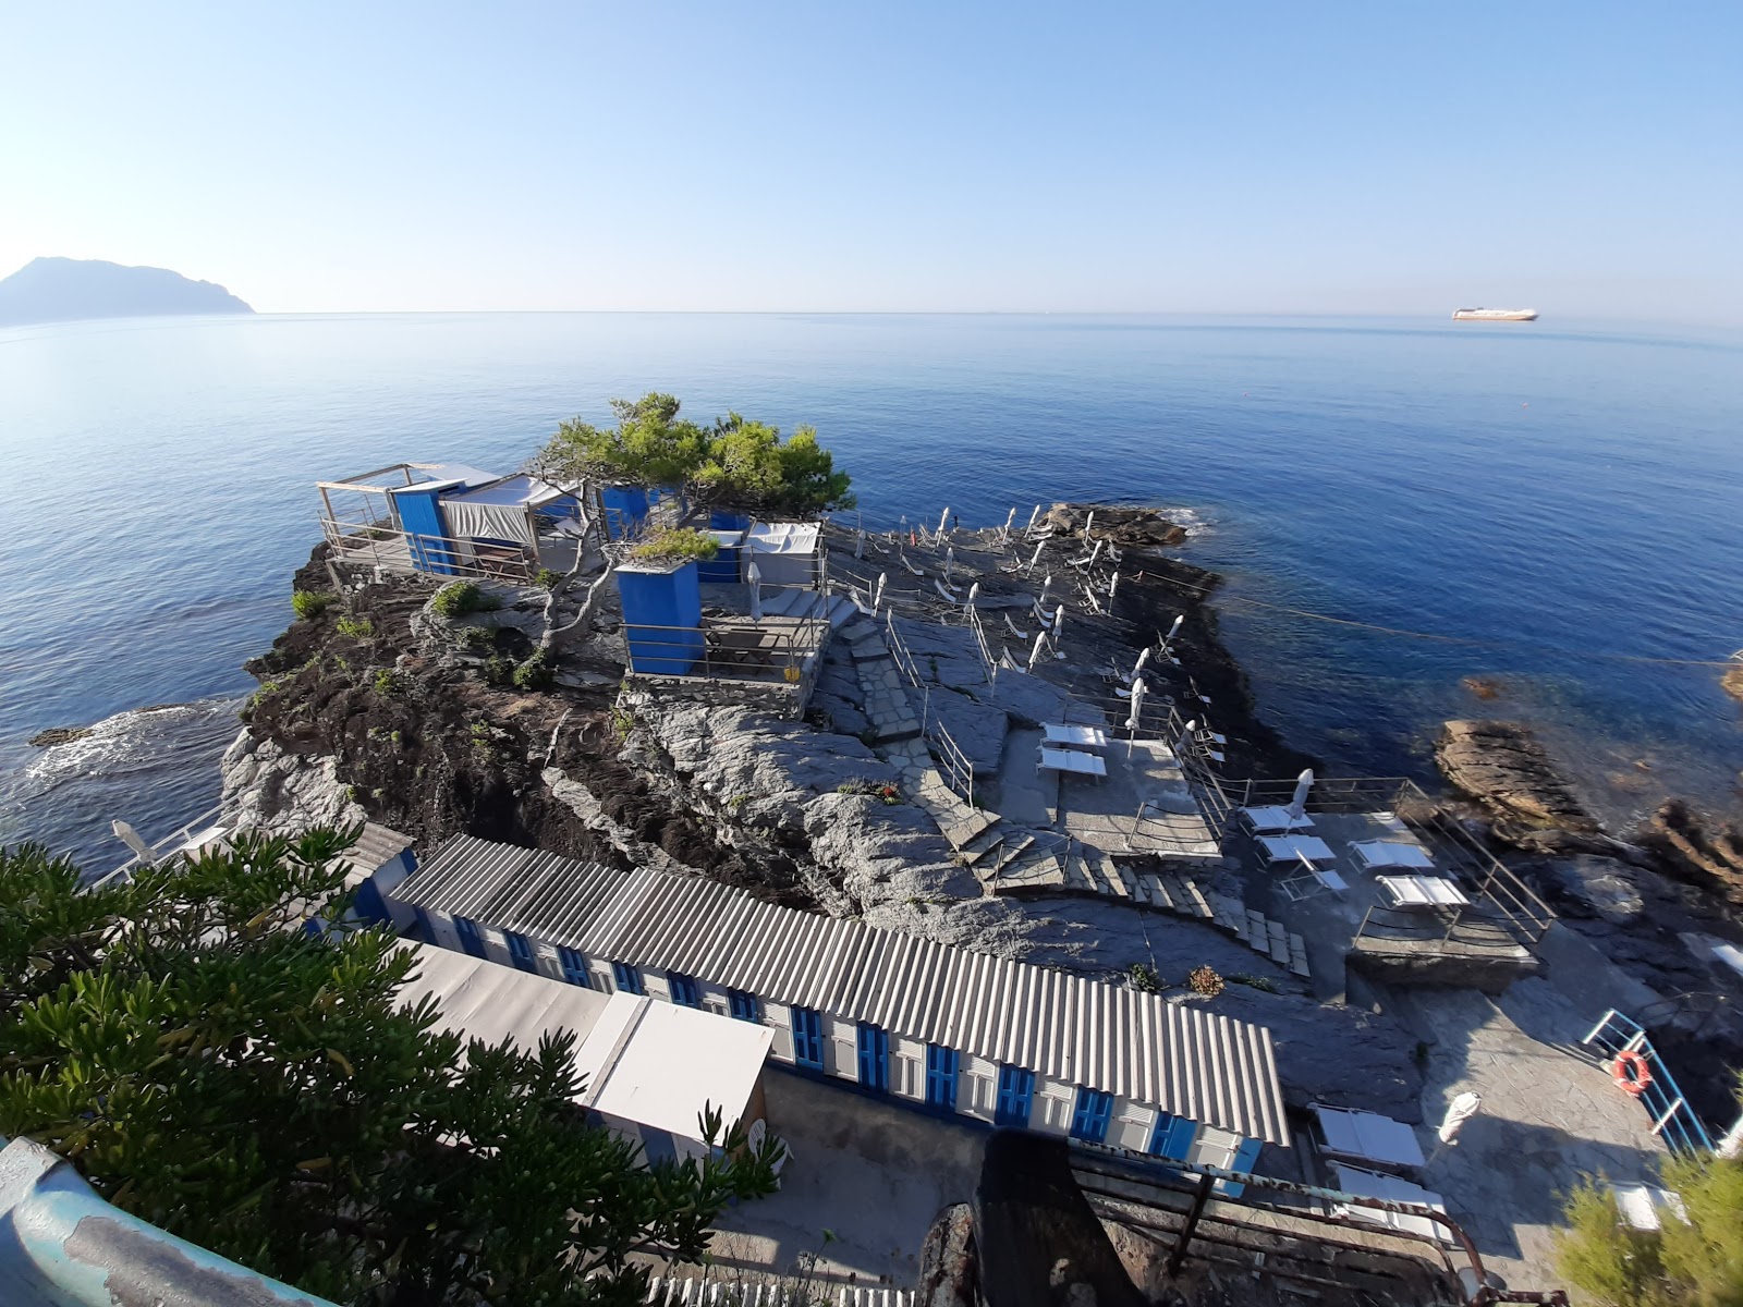
<svg viewBox="0 0 1743 1307">
<path fill-rule="evenodd" d="M 641 870 L 551 943 L 748 990 L 1286 1143 L 1271 1032 L 1027 962 Z"/>
</svg>

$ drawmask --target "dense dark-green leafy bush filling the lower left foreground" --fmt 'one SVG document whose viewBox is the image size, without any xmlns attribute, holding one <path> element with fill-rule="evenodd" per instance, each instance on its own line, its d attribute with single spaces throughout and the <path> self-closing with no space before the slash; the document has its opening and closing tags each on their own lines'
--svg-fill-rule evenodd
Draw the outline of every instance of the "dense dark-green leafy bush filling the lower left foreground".
<svg viewBox="0 0 1743 1307">
<path fill-rule="evenodd" d="M 629 1304 L 631 1256 L 702 1255 L 774 1148 L 713 1138 L 640 1166 L 582 1121 L 573 1035 L 469 1047 L 394 995 L 415 965 L 343 915 L 356 831 L 228 852 L 80 891 L 42 847 L 0 849 L 0 1133 L 108 1201 L 349 1304 Z"/>
</svg>

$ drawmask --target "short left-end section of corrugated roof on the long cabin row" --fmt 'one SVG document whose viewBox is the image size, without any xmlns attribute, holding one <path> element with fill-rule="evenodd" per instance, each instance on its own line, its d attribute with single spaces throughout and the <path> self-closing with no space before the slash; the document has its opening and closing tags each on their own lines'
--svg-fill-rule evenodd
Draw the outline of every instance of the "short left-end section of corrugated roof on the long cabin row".
<svg viewBox="0 0 1743 1307">
<path fill-rule="evenodd" d="M 566 943 L 626 878 L 600 863 L 457 835 L 406 877 L 394 901 Z"/>
</svg>

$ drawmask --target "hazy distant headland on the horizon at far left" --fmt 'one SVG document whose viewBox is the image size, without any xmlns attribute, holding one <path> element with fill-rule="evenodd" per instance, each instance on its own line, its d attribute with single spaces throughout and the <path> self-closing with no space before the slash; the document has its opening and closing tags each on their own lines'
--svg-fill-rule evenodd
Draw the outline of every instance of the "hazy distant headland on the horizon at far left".
<svg viewBox="0 0 1743 1307">
<path fill-rule="evenodd" d="M 96 258 L 33 258 L 0 281 L 0 326 L 159 314 L 253 314 L 223 286 L 169 268 Z"/>
</svg>

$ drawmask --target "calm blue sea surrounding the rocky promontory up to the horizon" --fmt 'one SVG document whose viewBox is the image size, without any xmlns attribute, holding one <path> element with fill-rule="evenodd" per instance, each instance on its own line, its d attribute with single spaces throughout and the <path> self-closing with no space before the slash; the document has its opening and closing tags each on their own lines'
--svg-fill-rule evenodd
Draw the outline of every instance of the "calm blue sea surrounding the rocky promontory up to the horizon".
<svg viewBox="0 0 1743 1307">
<path fill-rule="evenodd" d="M 0 840 L 91 864 L 216 798 L 314 481 L 514 465 L 669 390 L 814 423 L 868 523 L 1145 500 L 1229 573 L 1262 713 L 1346 772 L 1537 721 L 1618 823 L 1738 805 L 1743 335 L 1546 321 L 263 315 L 0 331 Z M 1274 605 L 1255 606 L 1245 601 Z M 1447 640 L 1339 626 L 1279 608 Z M 1478 704 L 1464 676 L 1494 676 Z M 138 713 L 183 704 L 166 713 Z M 31 749 L 44 727 L 103 723 Z"/>
</svg>

